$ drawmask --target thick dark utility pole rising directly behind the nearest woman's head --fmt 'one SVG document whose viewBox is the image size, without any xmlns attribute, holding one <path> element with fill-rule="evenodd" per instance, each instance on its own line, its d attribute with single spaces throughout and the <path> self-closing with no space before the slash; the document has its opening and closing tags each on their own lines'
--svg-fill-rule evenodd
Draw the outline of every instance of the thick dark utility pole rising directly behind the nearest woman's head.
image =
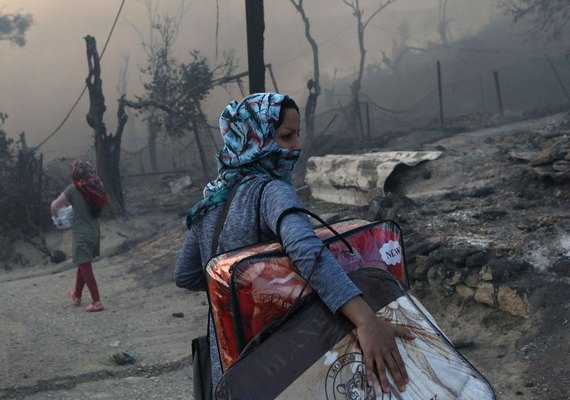
<svg viewBox="0 0 570 400">
<path fill-rule="evenodd" d="M 263 0 L 245 0 L 247 30 L 247 62 L 249 92 L 265 92 L 265 62 L 263 61 Z"/>
</svg>

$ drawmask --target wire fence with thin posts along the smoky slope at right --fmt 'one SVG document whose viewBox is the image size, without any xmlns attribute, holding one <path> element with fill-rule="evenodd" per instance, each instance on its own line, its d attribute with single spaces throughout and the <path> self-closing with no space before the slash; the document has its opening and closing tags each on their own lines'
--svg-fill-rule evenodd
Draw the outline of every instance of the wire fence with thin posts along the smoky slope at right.
<svg viewBox="0 0 570 400">
<path fill-rule="evenodd" d="M 570 103 L 568 85 L 566 52 L 555 57 L 540 54 L 464 76 L 456 71 L 446 74 L 445 63 L 434 63 L 424 71 L 393 74 L 391 79 L 365 79 L 359 110 L 351 105 L 348 90 L 325 90 L 319 101 L 328 109 L 316 115 L 316 132 L 336 136 L 357 129 L 367 137 L 393 130 L 445 128 L 461 116 L 485 114 L 506 120 L 557 112 Z M 353 113 L 364 122 L 355 125 Z"/>
</svg>

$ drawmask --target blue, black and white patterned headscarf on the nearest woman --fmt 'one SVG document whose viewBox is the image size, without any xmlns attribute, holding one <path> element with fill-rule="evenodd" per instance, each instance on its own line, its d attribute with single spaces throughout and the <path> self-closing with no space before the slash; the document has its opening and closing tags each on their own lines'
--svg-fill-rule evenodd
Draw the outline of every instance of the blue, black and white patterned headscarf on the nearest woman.
<svg viewBox="0 0 570 400">
<path fill-rule="evenodd" d="M 224 147 L 217 154 L 218 176 L 204 187 L 204 197 L 186 216 L 190 229 L 196 218 L 225 203 L 231 189 L 259 176 L 291 181 L 300 151 L 275 142 L 281 103 L 289 96 L 256 93 L 231 101 L 220 115 Z"/>
</svg>

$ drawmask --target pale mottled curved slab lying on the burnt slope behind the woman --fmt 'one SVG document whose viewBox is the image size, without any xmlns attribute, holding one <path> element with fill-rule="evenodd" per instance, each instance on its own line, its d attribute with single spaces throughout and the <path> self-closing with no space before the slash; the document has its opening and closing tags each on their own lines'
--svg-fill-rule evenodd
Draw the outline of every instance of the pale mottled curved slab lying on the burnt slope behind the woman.
<svg viewBox="0 0 570 400">
<path fill-rule="evenodd" d="M 414 166 L 440 155 L 440 151 L 388 151 L 311 157 L 307 161 L 305 182 L 316 199 L 366 206 L 375 197 L 384 195 L 386 179 L 397 165 Z"/>
</svg>

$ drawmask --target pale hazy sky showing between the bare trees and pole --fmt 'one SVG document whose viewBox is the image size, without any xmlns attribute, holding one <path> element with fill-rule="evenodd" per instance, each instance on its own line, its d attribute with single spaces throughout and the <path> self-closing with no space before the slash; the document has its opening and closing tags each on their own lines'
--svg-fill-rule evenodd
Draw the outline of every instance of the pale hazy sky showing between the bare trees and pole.
<svg viewBox="0 0 570 400">
<path fill-rule="evenodd" d="M 329 77 L 335 73 L 337 77 L 350 76 L 358 60 L 355 19 L 351 10 L 341 0 L 308 0 L 305 3 L 313 36 L 320 45 L 321 73 Z M 366 12 L 371 9 L 371 4 L 378 2 L 363 0 L 361 3 Z M 452 26 L 452 30 L 464 34 L 475 31 L 489 18 L 491 11 L 485 15 L 485 7 L 481 4 L 487 4 L 490 9 L 489 4 L 494 1 L 450 0 L 451 3 L 462 7 L 466 15 L 473 15 L 467 23 Z M 160 1 L 159 14 L 173 15 L 179 4 L 179 0 Z M 235 51 L 239 59 L 238 72 L 247 68 L 244 4 L 244 0 L 219 0 L 220 53 Z M 24 47 L 0 42 L 0 111 L 9 115 L 5 130 L 11 136 L 25 131 L 29 144 L 37 145 L 58 126 L 80 94 L 87 75 L 83 38 L 88 34 L 95 36 L 101 52 L 120 5 L 121 0 L 0 0 L 0 12 L 31 13 L 34 19 Z M 197 49 L 215 64 L 216 2 L 186 0 L 185 5 L 187 12 L 176 44 L 178 58 L 188 60 L 188 50 Z M 436 6 L 437 0 L 398 0 L 390 5 L 366 31 L 367 62 L 379 61 L 380 50 L 390 50 L 398 26 L 406 16 L 417 16 L 418 11 Z M 288 0 L 266 0 L 265 23 L 265 62 L 272 64 L 280 91 L 304 99 L 312 53 L 299 15 Z M 435 38 L 435 27 L 430 25 L 431 22 L 413 19 L 411 24 L 415 45 Z M 105 122 L 110 132 L 116 127 L 116 85 L 125 55 L 130 57 L 127 95 L 133 98 L 142 93 L 139 69 L 145 63 L 145 54 L 140 36 L 132 25 L 136 25 L 143 35 L 148 35 L 149 22 L 143 2 L 126 0 L 102 59 L 107 105 Z M 273 89 L 269 77 L 266 87 Z M 240 97 L 237 87 L 229 92 L 216 90 L 206 105 L 210 122 L 216 123 L 216 116 L 228 100 Z M 85 123 L 87 108 L 85 95 L 63 128 L 42 146 L 48 158 L 81 152 L 92 144 L 91 131 Z M 137 147 L 135 143 L 125 145 Z"/>
</svg>

